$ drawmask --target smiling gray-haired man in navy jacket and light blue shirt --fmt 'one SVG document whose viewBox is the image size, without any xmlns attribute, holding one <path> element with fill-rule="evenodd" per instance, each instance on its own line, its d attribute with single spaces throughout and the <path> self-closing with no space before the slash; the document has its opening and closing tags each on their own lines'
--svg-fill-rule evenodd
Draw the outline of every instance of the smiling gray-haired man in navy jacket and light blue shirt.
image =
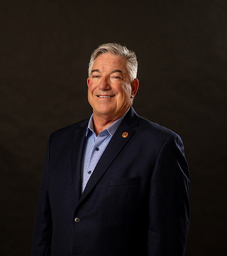
<svg viewBox="0 0 227 256">
<path fill-rule="evenodd" d="M 93 52 L 93 115 L 51 134 L 32 256 L 184 255 L 184 147 L 176 133 L 133 110 L 137 65 L 125 46 L 103 44 Z"/>
</svg>

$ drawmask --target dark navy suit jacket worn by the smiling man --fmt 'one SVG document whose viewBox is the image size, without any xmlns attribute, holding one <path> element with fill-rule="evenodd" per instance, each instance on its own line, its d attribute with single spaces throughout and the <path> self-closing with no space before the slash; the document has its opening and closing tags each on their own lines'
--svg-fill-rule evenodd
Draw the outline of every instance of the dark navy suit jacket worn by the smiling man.
<svg viewBox="0 0 227 256">
<path fill-rule="evenodd" d="M 81 195 L 88 120 L 50 136 L 31 256 L 184 255 L 189 171 L 180 137 L 131 107 Z"/>
</svg>

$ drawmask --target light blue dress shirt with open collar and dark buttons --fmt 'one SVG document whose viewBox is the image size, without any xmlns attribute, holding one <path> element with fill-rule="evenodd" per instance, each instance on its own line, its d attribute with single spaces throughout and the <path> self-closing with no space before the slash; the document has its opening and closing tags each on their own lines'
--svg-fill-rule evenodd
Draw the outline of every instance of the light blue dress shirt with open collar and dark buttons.
<svg viewBox="0 0 227 256">
<path fill-rule="evenodd" d="M 113 137 L 113 134 L 119 127 L 120 123 L 122 123 L 122 120 L 126 116 L 127 112 L 123 116 L 118 118 L 107 129 L 100 131 L 98 136 L 96 136 L 94 132 L 93 114 L 90 117 L 90 120 L 87 126 L 86 136 L 85 136 L 84 154 L 83 154 L 82 165 L 81 165 L 82 193 L 87 184 L 87 181 L 89 180 L 100 157 L 102 156 L 102 153 L 104 152 L 105 148 L 109 144 L 111 138 Z"/>
</svg>

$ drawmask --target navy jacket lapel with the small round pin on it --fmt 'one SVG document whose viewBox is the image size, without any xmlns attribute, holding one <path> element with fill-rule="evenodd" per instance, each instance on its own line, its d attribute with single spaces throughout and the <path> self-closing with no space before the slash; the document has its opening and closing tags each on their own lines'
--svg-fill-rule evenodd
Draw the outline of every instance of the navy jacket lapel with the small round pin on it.
<svg viewBox="0 0 227 256">
<path fill-rule="evenodd" d="M 89 178 L 86 184 L 84 192 L 80 198 L 80 202 L 89 194 L 92 188 L 101 179 L 105 171 L 107 171 L 108 167 L 111 165 L 111 163 L 119 154 L 119 152 L 123 149 L 125 144 L 133 136 L 135 130 L 133 130 L 131 127 L 138 125 L 138 119 L 139 116 L 131 107 L 126 117 L 124 118 L 122 124 L 120 124 L 120 126 L 114 133 L 113 138 L 111 139 L 107 148 L 105 149 L 101 158 L 99 159 L 92 176 Z M 123 136 L 123 133 L 126 132 L 128 133 L 127 136 Z"/>
</svg>

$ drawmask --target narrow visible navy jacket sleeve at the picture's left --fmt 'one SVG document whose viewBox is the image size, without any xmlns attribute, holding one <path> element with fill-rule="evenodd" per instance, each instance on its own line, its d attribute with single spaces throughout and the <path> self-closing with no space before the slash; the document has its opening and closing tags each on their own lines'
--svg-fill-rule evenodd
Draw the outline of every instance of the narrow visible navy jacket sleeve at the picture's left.
<svg viewBox="0 0 227 256">
<path fill-rule="evenodd" d="M 36 217 L 33 230 L 31 256 L 49 256 L 51 253 L 52 217 L 48 195 L 48 167 L 50 161 L 51 136 L 44 160 Z"/>
</svg>

